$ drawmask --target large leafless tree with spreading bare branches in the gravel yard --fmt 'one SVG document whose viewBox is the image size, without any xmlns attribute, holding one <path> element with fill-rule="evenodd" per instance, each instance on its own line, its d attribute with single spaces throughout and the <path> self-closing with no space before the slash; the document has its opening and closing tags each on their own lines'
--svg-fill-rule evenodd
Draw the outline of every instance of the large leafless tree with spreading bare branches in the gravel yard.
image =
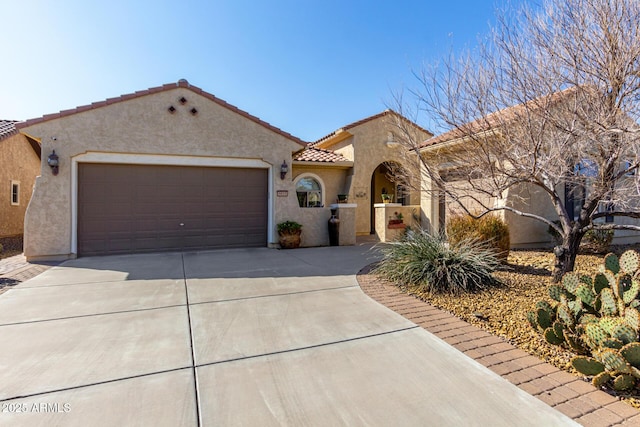
<svg viewBox="0 0 640 427">
<path fill-rule="evenodd" d="M 425 146 L 396 126 L 407 151 L 423 153 L 432 189 L 475 216 L 506 210 L 546 223 L 561 236 L 556 279 L 573 270 L 588 230 L 640 230 L 620 219 L 640 218 L 638 0 L 503 9 L 474 50 L 415 75 L 394 109 L 446 133 Z M 504 199 L 518 186 L 544 192 L 557 218 Z M 565 193 L 581 199 L 575 213 Z"/>
</svg>

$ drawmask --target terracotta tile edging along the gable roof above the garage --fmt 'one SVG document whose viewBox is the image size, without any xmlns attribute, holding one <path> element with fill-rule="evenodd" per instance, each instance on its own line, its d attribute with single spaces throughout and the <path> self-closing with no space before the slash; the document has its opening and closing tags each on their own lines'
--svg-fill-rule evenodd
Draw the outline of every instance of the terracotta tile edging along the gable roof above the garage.
<svg viewBox="0 0 640 427">
<path fill-rule="evenodd" d="M 66 117 L 66 116 L 70 116 L 70 115 L 73 115 L 73 114 L 82 113 L 83 111 L 94 110 L 94 109 L 97 109 L 97 108 L 105 107 L 107 105 L 117 104 L 119 102 L 127 101 L 127 100 L 134 99 L 134 98 L 140 98 L 142 96 L 151 95 L 151 94 L 158 93 L 158 92 L 163 92 L 163 91 L 166 91 L 166 90 L 172 90 L 172 89 L 175 89 L 175 88 L 178 88 L 178 87 L 186 88 L 186 89 L 191 90 L 192 92 L 195 92 L 195 93 L 197 93 L 199 95 L 202 95 L 205 98 L 210 99 L 211 101 L 215 102 L 216 104 L 221 105 L 221 106 L 223 106 L 223 107 L 225 107 L 225 108 L 227 108 L 227 109 L 229 109 L 229 110 L 231 110 L 231 111 L 233 111 L 233 112 L 235 112 L 237 114 L 240 114 L 241 116 L 244 116 L 245 118 L 247 118 L 247 119 L 249 119 L 249 120 L 251 120 L 251 121 L 253 121 L 255 123 L 258 123 L 259 125 L 264 126 L 265 128 L 267 128 L 267 129 L 269 129 L 269 130 L 271 130 L 271 131 L 273 131 L 273 132 L 275 132 L 277 134 L 280 134 L 280 135 L 284 136 L 287 139 L 290 139 L 290 140 L 292 140 L 294 142 L 297 142 L 300 145 L 303 145 L 303 146 L 307 145 L 307 143 L 302 141 L 300 138 L 298 138 L 296 136 L 293 136 L 290 133 L 283 131 L 282 129 L 279 129 L 279 128 L 277 128 L 277 127 L 275 127 L 275 126 L 273 126 L 273 125 L 261 120 L 260 118 L 258 118 L 256 116 L 252 116 L 251 114 L 247 113 L 246 111 L 243 111 L 243 110 L 239 109 L 238 107 L 235 107 L 235 106 L 227 103 L 226 101 L 223 101 L 222 99 L 217 98 L 216 96 L 214 96 L 214 95 L 212 95 L 212 94 L 210 94 L 208 92 L 203 91 L 199 87 L 196 87 L 196 86 L 193 86 L 193 85 L 189 84 L 189 82 L 186 81 L 185 79 L 180 79 L 177 83 L 168 83 L 168 84 L 165 84 L 165 85 L 162 85 L 162 86 L 157 86 L 157 87 L 149 88 L 149 89 L 146 89 L 146 90 L 140 90 L 140 91 L 137 91 L 137 92 L 134 92 L 134 93 L 121 95 L 121 96 L 118 96 L 116 98 L 109 98 L 109 99 L 106 99 L 104 101 L 94 102 L 94 103 L 92 103 L 90 105 L 83 105 L 81 107 L 73 108 L 73 109 L 70 109 L 70 110 L 60 111 L 59 113 L 48 114 L 48 115 L 45 115 L 45 116 L 42 116 L 42 117 L 39 117 L 39 118 L 30 119 L 30 120 L 27 120 L 25 122 L 16 123 L 16 127 L 18 129 L 22 129 L 24 127 L 31 126 L 31 125 L 34 125 L 34 124 L 37 124 L 37 123 L 42 123 L 42 122 L 46 122 L 46 121 L 49 121 L 49 120 L 59 119 L 61 117 Z"/>
</svg>

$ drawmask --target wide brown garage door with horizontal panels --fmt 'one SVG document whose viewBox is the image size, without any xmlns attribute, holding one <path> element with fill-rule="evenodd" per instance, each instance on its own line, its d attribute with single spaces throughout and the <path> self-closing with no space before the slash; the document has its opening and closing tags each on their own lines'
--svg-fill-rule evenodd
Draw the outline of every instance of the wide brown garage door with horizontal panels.
<svg viewBox="0 0 640 427">
<path fill-rule="evenodd" d="M 266 169 L 78 165 L 78 255 L 266 246 Z"/>
</svg>

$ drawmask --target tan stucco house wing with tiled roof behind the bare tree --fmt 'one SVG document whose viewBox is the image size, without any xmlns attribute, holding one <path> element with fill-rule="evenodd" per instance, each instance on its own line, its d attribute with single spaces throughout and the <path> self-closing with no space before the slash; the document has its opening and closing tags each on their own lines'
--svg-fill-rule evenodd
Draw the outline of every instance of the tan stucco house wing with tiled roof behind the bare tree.
<svg viewBox="0 0 640 427">
<path fill-rule="evenodd" d="M 572 89 L 567 89 L 551 95 L 548 99 L 540 98 L 531 102 L 532 105 L 535 105 L 533 104 L 534 102 L 541 105 L 546 102 L 550 106 L 561 105 L 564 97 L 570 95 L 572 91 Z M 450 185 L 451 187 L 449 188 L 462 189 L 461 191 L 458 190 L 458 192 L 465 196 L 460 201 L 469 211 L 484 211 L 481 204 L 489 208 L 510 206 L 516 210 L 530 212 L 551 221 L 558 219 L 549 195 L 540 187 L 530 183 L 523 183 L 508 188 L 501 198 L 489 197 L 477 191 L 477 187 L 476 189 L 472 188 L 468 176 L 464 176 L 465 179 L 460 179 L 460 175 L 457 173 L 460 165 L 452 167 L 448 160 L 454 157 L 457 159 L 463 158 L 464 156 L 460 156 L 460 153 L 464 153 L 465 144 L 472 141 L 472 139 L 475 141 L 491 141 L 494 138 L 500 138 L 503 126 L 516 118 L 526 117 L 527 108 L 531 110 L 535 106 L 520 104 L 505 108 L 489 114 L 481 120 L 466 123 L 457 129 L 429 138 L 420 145 L 421 156 L 426 162 L 436 165 L 444 185 Z M 576 167 L 579 166 L 579 164 L 576 165 Z M 467 171 L 463 173 L 463 175 L 466 174 Z M 445 192 L 439 191 L 437 185 L 428 178 L 423 178 L 423 189 L 421 202 L 421 211 L 424 215 L 423 226 L 432 232 L 443 230 L 451 216 L 464 212 L 458 201 L 450 200 Z M 577 219 L 584 202 L 584 194 L 581 196 L 580 193 L 571 191 L 567 184 L 561 185 L 556 191 L 563 199 L 569 216 Z M 605 206 L 600 206 L 600 208 L 604 209 Z M 513 248 L 537 248 L 555 244 L 553 237 L 549 233 L 549 226 L 539 220 L 526 218 L 506 210 L 497 210 L 494 215 L 502 218 L 509 226 L 511 246 Z M 615 219 L 614 217 L 608 217 L 606 221 L 632 223 L 630 221 L 635 220 L 623 217 L 616 217 Z M 635 231 L 616 230 L 614 243 L 637 242 L 639 237 L 640 235 Z"/>
</svg>

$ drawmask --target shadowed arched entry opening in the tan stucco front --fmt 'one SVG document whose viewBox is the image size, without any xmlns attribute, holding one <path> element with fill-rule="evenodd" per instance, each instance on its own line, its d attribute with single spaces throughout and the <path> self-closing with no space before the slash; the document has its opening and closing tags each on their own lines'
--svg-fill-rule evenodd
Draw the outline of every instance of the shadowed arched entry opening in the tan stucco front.
<svg viewBox="0 0 640 427">
<path fill-rule="evenodd" d="M 383 197 L 391 203 L 400 203 L 403 206 L 410 204 L 409 186 L 406 183 L 407 175 L 402 173 L 402 166 L 395 162 L 383 162 L 378 165 L 371 174 L 371 234 L 375 233 L 375 208 L 376 203 L 383 203 Z M 383 196 L 383 194 L 385 196 Z"/>
</svg>

